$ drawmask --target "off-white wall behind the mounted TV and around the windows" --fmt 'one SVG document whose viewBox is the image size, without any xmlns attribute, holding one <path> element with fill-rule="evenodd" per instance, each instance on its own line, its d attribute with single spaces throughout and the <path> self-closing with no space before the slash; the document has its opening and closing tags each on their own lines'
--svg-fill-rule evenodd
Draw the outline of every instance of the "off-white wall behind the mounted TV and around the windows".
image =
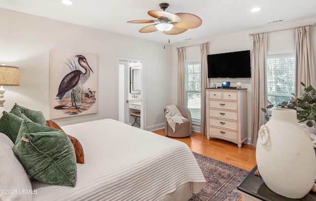
<svg viewBox="0 0 316 201">
<path fill-rule="evenodd" d="M 224 53 L 224 52 L 233 52 L 241 50 L 251 50 L 253 40 L 249 34 L 256 34 L 262 32 L 270 32 L 275 30 L 288 29 L 293 27 L 299 27 L 304 25 L 310 25 L 316 22 L 316 17 L 309 18 L 305 20 L 295 21 L 292 23 L 282 23 L 275 26 L 267 26 L 260 29 L 254 30 L 245 30 L 244 32 L 219 36 L 214 38 L 209 38 L 205 40 L 198 40 L 192 42 L 181 43 L 172 46 L 172 76 L 177 76 L 177 47 L 185 47 L 196 44 L 201 44 L 209 42 L 209 54 Z M 197 28 L 198 29 L 198 28 Z M 316 58 L 316 27 L 314 27 L 313 32 L 313 43 L 314 43 L 314 54 Z M 189 30 L 190 31 L 190 30 Z M 289 51 L 294 49 L 294 31 L 286 30 L 280 32 L 273 32 L 268 34 L 268 51 L 269 52 L 279 52 L 279 51 Z M 185 49 L 186 59 L 195 60 L 200 58 L 200 47 L 191 46 Z M 236 86 L 237 81 L 242 83 L 242 88 L 247 88 L 247 104 L 248 104 L 248 142 L 251 138 L 251 79 L 210 79 L 210 83 L 220 84 L 222 81 L 231 81 L 232 86 Z M 172 81 L 172 103 L 177 103 L 177 81 Z"/>
</svg>

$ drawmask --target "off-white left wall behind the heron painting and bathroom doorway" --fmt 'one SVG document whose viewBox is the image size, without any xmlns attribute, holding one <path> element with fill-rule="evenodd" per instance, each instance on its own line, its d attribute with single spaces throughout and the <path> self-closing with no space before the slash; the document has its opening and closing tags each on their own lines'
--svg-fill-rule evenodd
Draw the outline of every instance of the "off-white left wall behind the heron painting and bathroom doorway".
<svg viewBox="0 0 316 201">
<path fill-rule="evenodd" d="M 171 46 L 0 8 L 0 64 L 20 68 L 20 86 L 6 86 L 4 108 L 19 105 L 49 119 L 49 50 L 99 56 L 99 113 L 54 120 L 60 125 L 117 119 L 117 58 L 145 60 L 147 129 L 164 123 L 171 103 Z M 159 55 L 159 57 L 157 56 Z"/>
</svg>

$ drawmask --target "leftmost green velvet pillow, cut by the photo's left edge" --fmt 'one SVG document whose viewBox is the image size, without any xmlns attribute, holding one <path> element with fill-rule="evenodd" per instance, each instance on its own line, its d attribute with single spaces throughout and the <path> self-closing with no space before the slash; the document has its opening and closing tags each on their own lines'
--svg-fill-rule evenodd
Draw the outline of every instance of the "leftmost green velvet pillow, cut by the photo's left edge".
<svg viewBox="0 0 316 201">
<path fill-rule="evenodd" d="M 0 132 L 7 135 L 15 143 L 22 121 L 23 119 L 18 116 L 3 111 L 0 118 Z"/>
</svg>

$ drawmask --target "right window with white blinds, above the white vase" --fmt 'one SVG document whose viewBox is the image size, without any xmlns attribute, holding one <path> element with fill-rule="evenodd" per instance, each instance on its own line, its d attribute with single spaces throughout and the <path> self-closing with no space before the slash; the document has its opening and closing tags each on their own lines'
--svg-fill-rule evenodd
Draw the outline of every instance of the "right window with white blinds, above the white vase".
<svg viewBox="0 0 316 201">
<path fill-rule="evenodd" d="M 269 55 L 267 57 L 268 100 L 274 105 L 289 101 L 295 92 L 294 54 Z"/>
</svg>

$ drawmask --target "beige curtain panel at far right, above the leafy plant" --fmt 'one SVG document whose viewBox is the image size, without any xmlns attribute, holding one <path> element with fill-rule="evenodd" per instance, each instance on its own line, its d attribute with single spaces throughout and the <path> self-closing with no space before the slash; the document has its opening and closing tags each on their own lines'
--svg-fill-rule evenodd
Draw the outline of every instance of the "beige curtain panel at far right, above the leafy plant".
<svg viewBox="0 0 316 201">
<path fill-rule="evenodd" d="M 296 67 L 296 90 L 299 95 L 304 86 L 316 87 L 316 70 L 313 54 L 312 26 L 299 27 L 295 29 L 295 67 Z"/>
</svg>

